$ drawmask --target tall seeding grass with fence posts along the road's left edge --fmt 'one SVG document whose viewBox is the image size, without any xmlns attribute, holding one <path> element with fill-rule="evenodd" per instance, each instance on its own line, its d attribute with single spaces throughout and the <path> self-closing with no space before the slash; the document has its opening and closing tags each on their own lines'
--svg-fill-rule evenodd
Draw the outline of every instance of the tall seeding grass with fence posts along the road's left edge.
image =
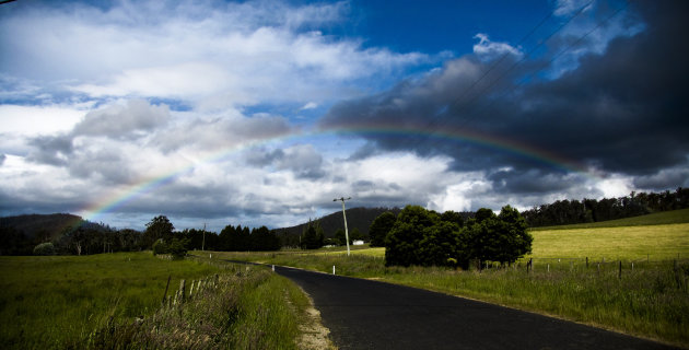
<svg viewBox="0 0 689 350">
<path fill-rule="evenodd" d="M 140 320 L 110 322 L 87 348 L 296 349 L 303 294 L 267 269 L 223 273 L 214 289 Z M 300 304 L 301 303 L 301 304 Z"/>
</svg>

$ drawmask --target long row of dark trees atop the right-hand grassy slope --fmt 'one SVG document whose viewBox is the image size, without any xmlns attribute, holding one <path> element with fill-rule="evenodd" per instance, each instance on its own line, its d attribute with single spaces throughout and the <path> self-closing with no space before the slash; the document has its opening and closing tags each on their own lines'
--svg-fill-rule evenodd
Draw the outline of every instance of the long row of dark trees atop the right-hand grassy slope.
<svg viewBox="0 0 689 350">
<path fill-rule="evenodd" d="M 588 223 L 689 208 L 689 188 L 674 192 L 634 192 L 600 200 L 558 200 L 522 212 L 532 228 Z"/>
</svg>

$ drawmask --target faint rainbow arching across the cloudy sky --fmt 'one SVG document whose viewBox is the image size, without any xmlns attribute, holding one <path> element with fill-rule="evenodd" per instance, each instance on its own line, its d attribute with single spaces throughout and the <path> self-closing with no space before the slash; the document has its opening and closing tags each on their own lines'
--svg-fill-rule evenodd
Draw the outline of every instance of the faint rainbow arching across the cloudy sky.
<svg viewBox="0 0 689 350">
<path fill-rule="evenodd" d="M 84 219 L 97 222 L 98 218 L 104 213 L 113 212 L 117 208 L 122 207 L 141 196 L 154 192 L 156 189 L 172 184 L 179 176 L 188 174 L 196 167 L 219 162 L 226 156 L 237 153 L 244 150 L 248 150 L 255 147 L 270 144 L 272 142 L 285 142 L 290 140 L 299 140 L 308 137 L 322 137 L 322 136 L 351 136 L 361 137 L 362 135 L 379 135 L 389 137 L 407 137 L 407 138 L 432 138 L 441 141 L 465 142 L 489 149 L 494 149 L 500 152 L 509 152 L 518 156 L 535 160 L 540 163 L 547 164 L 554 168 L 564 171 L 567 173 L 581 173 L 588 177 L 597 177 L 583 164 L 576 163 L 572 160 L 564 159 L 553 152 L 537 149 L 526 143 L 521 143 L 515 140 L 506 138 L 499 138 L 495 136 L 484 135 L 471 130 L 429 130 L 428 128 L 418 128 L 414 126 L 373 126 L 373 125 L 360 125 L 360 126 L 347 126 L 335 128 L 322 128 L 312 131 L 297 130 L 287 135 L 279 135 L 268 137 L 264 139 L 257 139 L 252 142 L 245 142 L 230 148 L 221 149 L 202 158 L 199 161 L 189 162 L 185 166 L 180 166 L 172 172 L 165 174 L 142 179 L 128 186 L 124 186 L 117 191 L 114 191 L 109 197 L 104 198 L 97 202 L 94 202 L 81 210 L 84 213 Z"/>
</svg>

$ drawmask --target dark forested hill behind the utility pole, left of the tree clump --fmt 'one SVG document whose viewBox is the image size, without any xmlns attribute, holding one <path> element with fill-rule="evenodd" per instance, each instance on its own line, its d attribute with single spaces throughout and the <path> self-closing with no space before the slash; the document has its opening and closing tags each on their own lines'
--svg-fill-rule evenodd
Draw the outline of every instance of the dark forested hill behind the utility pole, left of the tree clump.
<svg viewBox="0 0 689 350">
<path fill-rule="evenodd" d="M 362 235 L 369 235 L 369 226 L 375 218 L 382 213 L 390 211 L 397 215 L 401 209 L 399 208 L 351 208 L 347 209 L 347 229 L 352 232 L 354 229 L 359 229 Z M 325 233 L 326 237 L 334 237 L 335 232 L 338 229 L 344 230 L 344 221 L 342 220 L 342 211 L 336 211 L 331 214 L 325 215 L 320 219 L 315 219 L 313 222 L 318 222 Z M 296 226 L 276 229 L 276 233 L 280 235 L 300 235 L 304 228 L 308 223 L 302 223 Z"/>
</svg>

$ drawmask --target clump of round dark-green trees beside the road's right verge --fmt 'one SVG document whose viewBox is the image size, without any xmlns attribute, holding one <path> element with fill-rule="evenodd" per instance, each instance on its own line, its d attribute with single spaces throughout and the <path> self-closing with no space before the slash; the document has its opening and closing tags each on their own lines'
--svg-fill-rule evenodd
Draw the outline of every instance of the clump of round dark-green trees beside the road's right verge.
<svg viewBox="0 0 689 350">
<path fill-rule="evenodd" d="M 530 253 L 533 237 L 521 213 L 510 207 L 499 214 L 481 208 L 464 220 L 460 213 L 437 213 L 407 206 L 398 215 L 383 213 L 371 224 L 371 244 L 385 246 L 386 266 L 452 266 L 471 261 L 512 264 Z"/>
</svg>

